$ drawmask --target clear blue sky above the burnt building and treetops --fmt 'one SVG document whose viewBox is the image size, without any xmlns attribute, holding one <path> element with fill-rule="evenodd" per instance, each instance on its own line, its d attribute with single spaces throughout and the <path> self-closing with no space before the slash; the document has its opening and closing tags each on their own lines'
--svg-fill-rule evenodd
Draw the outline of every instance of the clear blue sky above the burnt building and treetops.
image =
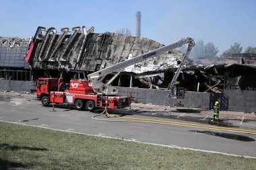
<svg viewBox="0 0 256 170">
<path fill-rule="evenodd" d="M 187 38 L 214 42 L 222 54 L 234 42 L 256 46 L 255 0 L 0 0 L 0 36 L 30 38 L 38 26 L 94 26 L 94 32 L 128 28 L 161 44 Z"/>
</svg>

